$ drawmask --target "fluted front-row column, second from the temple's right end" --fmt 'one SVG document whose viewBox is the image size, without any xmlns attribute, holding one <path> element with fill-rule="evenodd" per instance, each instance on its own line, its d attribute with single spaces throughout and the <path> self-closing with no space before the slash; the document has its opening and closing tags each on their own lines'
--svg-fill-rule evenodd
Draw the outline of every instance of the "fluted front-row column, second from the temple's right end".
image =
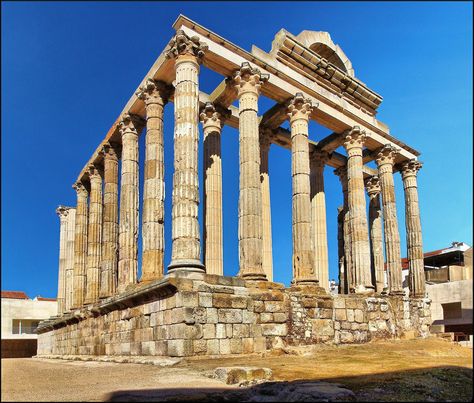
<svg viewBox="0 0 474 403">
<path fill-rule="evenodd" d="M 382 205 L 387 258 L 388 287 L 391 295 L 403 295 L 400 234 L 398 232 L 397 207 L 393 183 L 393 163 L 397 149 L 385 145 L 377 154 L 376 162 L 382 189 Z"/>
</svg>

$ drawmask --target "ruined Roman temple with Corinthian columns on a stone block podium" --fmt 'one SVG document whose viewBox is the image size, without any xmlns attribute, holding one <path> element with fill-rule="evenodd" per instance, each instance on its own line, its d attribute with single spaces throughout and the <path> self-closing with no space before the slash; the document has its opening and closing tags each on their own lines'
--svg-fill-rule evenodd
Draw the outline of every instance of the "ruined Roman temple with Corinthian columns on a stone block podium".
<svg viewBox="0 0 474 403">
<path fill-rule="evenodd" d="M 417 193 L 421 163 L 416 150 L 377 120 L 381 96 L 355 77 L 350 60 L 326 32 L 295 36 L 282 29 L 266 53 L 255 46 L 247 52 L 184 16 L 173 28 L 175 35 L 75 180 L 77 204 L 57 209 L 58 313 L 38 328 L 38 356 L 212 356 L 427 336 L 430 301 Z M 222 76 L 210 94 L 199 89 L 201 69 Z M 260 95 L 274 106 L 259 111 Z M 163 119 L 170 107 L 172 219 L 165 222 Z M 310 141 L 310 120 L 332 134 Z M 285 121 L 289 129 L 282 127 Z M 223 275 L 224 125 L 239 132 L 235 277 Z M 140 135 L 144 161 L 138 158 Z M 291 152 L 289 287 L 273 282 L 272 146 Z M 345 153 L 336 151 L 340 146 Z M 334 212 L 338 295 L 329 293 L 325 166 L 334 168 L 343 201 Z M 409 295 L 402 288 L 396 174 L 405 192 Z M 165 225 L 172 231 L 167 265 Z"/>
</svg>

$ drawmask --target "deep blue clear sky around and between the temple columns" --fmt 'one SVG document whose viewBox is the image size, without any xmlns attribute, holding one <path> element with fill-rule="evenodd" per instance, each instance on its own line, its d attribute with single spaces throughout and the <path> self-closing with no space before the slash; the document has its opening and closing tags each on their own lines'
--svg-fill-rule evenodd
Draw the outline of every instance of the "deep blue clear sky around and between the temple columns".
<svg viewBox="0 0 474 403">
<path fill-rule="evenodd" d="M 2 2 L 2 289 L 55 296 L 59 204 L 184 14 L 243 49 L 269 51 L 285 28 L 327 31 L 356 77 L 384 98 L 378 119 L 419 150 L 425 251 L 472 244 L 470 2 Z M 222 80 L 203 69 L 201 88 Z M 262 98 L 261 110 L 272 102 Z M 173 106 L 165 113 L 166 256 L 170 261 Z M 310 138 L 329 131 L 310 125 Z M 141 137 L 143 161 L 144 136 Z M 238 270 L 238 133 L 223 131 L 224 271 Z M 142 171 L 143 173 L 143 171 Z M 276 281 L 291 280 L 291 161 L 270 151 Z M 141 184 L 143 177 L 141 175 Z M 330 278 L 337 279 L 342 192 L 325 170 Z M 395 175 L 402 255 L 404 195 Z M 142 193 L 142 190 L 140 190 Z"/>
</svg>

